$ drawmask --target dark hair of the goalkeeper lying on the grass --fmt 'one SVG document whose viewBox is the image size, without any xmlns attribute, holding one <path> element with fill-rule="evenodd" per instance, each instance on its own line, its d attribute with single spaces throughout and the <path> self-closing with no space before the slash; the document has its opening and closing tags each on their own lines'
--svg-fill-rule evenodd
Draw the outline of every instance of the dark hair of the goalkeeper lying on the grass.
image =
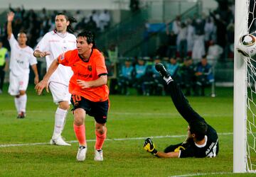
<svg viewBox="0 0 256 177">
<path fill-rule="evenodd" d="M 191 134 L 195 134 L 196 139 L 198 141 L 201 141 L 205 137 L 207 129 L 208 129 L 206 122 L 193 120 L 193 121 L 189 122 L 188 125 L 190 127 Z"/>
</svg>

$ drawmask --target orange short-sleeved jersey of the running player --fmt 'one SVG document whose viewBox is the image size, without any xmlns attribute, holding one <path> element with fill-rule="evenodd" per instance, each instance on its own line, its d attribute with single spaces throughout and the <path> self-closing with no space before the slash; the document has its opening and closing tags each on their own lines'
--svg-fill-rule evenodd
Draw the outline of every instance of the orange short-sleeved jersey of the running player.
<svg viewBox="0 0 256 177">
<path fill-rule="evenodd" d="M 97 49 L 92 49 L 92 54 L 88 61 L 83 60 L 78 55 L 78 50 L 69 50 L 58 57 L 58 63 L 69 66 L 74 74 L 70 79 L 69 92 L 74 95 L 80 95 L 90 101 L 107 101 L 109 89 L 107 85 L 82 89 L 77 84 L 77 79 L 83 81 L 95 81 L 101 75 L 107 75 L 105 58 Z"/>
</svg>

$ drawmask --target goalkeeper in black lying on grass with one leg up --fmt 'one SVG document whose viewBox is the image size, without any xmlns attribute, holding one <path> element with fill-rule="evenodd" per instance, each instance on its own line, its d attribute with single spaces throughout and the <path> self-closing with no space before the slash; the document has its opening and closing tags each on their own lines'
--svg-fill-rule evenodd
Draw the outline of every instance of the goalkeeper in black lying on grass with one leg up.
<svg viewBox="0 0 256 177">
<path fill-rule="evenodd" d="M 164 152 L 158 152 L 154 142 L 147 138 L 144 149 L 157 157 L 184 158 L 184 157 L 215 157 L 218 154 L 219 144 L 216 130 L 196 113 L 189 105 L 181 89 L 171 79 L 163 64 L 156 64 L 156 70 L 164 77 L 171 92 L 171 99 L 182 117 L 188 122 L 188 137 L 185 142 L 170 145 Z"/>
</svg>

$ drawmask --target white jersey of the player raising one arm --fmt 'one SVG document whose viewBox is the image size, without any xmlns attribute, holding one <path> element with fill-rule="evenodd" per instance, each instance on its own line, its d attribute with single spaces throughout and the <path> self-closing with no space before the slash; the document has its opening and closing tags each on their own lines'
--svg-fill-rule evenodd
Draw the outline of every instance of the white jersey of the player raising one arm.
<svg viewBox="0 0 256 177">
<path fill-rule="evenodd" d="M 29 46 L 20 47 L 13 34 L 11 34 L 9 44 L 11 46 L 10 71 L 14 76 L 29 74 L 29 64 L 37 64 L 33 49 Z"/>
</svg>

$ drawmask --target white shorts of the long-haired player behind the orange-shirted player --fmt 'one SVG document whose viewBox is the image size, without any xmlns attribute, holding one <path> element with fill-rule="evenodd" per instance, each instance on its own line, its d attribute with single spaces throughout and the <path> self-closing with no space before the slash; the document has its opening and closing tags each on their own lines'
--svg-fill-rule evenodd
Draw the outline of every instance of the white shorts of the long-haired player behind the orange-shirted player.
<svg viewBox="0 0 256 177">
<path fill-rule="evenodd" d="M 58 104 L 60 101 L 68 101 L 70 104 L 71 94 L 68 92 L 68 86 L 58 82 L 49 83 L 50 92 L 53 95 L 53 102 Z"/>
</svg>

